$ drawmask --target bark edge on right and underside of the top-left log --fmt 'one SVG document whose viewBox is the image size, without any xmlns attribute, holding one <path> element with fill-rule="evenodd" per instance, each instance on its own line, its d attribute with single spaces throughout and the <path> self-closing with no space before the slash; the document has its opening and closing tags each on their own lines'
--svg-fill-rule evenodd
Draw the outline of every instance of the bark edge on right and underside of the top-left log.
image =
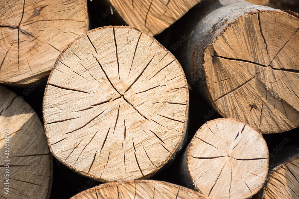
<svg viewBox="0 0 299 199">
<path fill-rule="evenodd" d="M 87 32 L 89 30 L 89 27 L 90 27 L 90 20 L 89 20 L 89 17 L 88 17 L 88 10 L 87 10 L 87 1 L 88 0 L 81 0 L 84 4 L 84 12 L 85 12 L 85 32 Z M 85 34 L 85 33 L 84 33 Z M 76 40 L 76 39 L 75 39 Z M 73 41 L 72 41 L 73 42 Z M 71 43 L 72 43 L 71 42 Z M 62 51 L 63 52 L 63 51 Z M 56 63 L 56 61 L 55 61 Z M 52 70 L 52 69 L 51 69 Z M 29 78 L 25 78 L 25 79 L 22 79 L 21 81 L 1 81 L 0 80 L 0 84 L 6 84 L 8 86 L 14 86 L 14 87 L 28 87 L 29 84 L 32 84 L 33 82 L 36 82 L 36 81 L 44 81 L 47 78 L 47 76 L 51 73 L 51 70 L 48 70 L 48 71 L 44 71 L 38 75 L 35 75 L 35 76 L 31 76 Z"/>
</svg>

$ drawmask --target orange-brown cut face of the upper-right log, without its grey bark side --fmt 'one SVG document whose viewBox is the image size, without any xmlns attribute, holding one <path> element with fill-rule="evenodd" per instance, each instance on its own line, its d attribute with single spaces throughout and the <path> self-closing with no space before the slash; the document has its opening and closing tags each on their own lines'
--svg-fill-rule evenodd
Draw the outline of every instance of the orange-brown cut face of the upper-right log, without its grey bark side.
<svg viewBox="0 0 299 199">
<path fill-rule="evenodd" d="M 252 11 L 229 23 L 204 50 L 213 106 L 262 133 L 298 127 L 298 42 L 298 18 L 279 10 Z"/>
</svg>

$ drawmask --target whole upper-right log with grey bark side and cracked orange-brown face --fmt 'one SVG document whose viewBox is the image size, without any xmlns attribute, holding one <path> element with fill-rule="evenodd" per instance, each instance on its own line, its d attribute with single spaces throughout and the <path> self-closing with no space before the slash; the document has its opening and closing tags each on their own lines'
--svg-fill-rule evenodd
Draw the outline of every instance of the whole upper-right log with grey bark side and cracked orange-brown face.
<svg viewBox="0 0 299 199">
<path fill-rule="evenodd" d="M 223 117 L 262 133 L 298 127 L 299 19 L 241 0 L 201 5 L 179 27 L 187 41 L 176 55 L 189 83 Z"/>
</svg>

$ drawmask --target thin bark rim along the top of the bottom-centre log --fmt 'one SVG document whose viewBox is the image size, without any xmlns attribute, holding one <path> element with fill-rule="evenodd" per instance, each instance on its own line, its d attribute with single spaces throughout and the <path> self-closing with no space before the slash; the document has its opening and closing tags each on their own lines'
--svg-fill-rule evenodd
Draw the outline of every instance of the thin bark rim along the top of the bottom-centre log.
<svg viewBox="0 0 299 199">
<path fill-rule="evenodd" d="M 169 182 L 164 182 L 164 181 L 155 181 L 155 180 L 131 180 L 131 181 L 116 181 L 116 182 L 110 182 L 110 183 L 105 183 L 105 184 L 100 184 L 98 186 L 95 186 L 93 188 L 87 189 L 83 192 L 78 193 L 77 195 L 73 196 L 71 199 L 76 199 L 76 198 L 81 198 L 82 196 L 84 196 L 85 194 L 91 193 L 91 192 L 95 192 L 96 190 L 99 189 L 104 189 L 104 188 L 108 188 L 108 187 L 112 187 L 112 186 L 118 186 L 118 185 L 126 185 L 126 184 L 131 184 L 131 183 L 150 183 L 150 184 L 160 184 L 160 185 L 165 185 L 167 187 L 175 187 L 175 188 L 179 188 L 182 189 L 186 192 L 192 192 L 195 195 L 198 195 L 199 198 L 207 198 L 205 195 L 202 195 L 199 192 L 196 192 L 192 189 L 188 189 L 186 187 L 183 186 L 179 186 L 173 183 L 169 183 Z M 208 199 L 208 198 L 207 198 Z"/>
</svg>

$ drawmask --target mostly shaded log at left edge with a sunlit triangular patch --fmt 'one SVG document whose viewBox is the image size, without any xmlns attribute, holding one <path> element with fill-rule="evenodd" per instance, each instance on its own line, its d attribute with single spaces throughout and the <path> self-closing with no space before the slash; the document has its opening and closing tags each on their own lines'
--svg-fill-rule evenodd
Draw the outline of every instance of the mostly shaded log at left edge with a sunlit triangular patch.
<svg viewBox="0 0 299 199">
<path fill-rule="evenodd" d="M 5 130 L 8 141 L 4 138 Z M 49 198 L 53 160 L 42 123 L 24 100 L 3 86 L 0 86 L 0 131 L 0 198 Z M 4 166 L 7 163 L 8 168 Z M 4 189 L 6 178 L 8 192 Z"/>
</svg>

